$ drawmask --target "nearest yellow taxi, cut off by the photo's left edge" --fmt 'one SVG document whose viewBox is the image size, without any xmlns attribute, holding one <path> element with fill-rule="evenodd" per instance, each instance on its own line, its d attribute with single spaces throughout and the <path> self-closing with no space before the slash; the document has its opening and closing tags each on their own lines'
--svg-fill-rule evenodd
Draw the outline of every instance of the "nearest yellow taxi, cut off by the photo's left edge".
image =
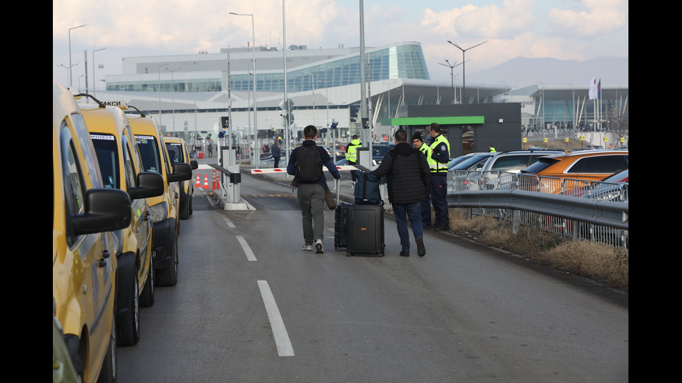
<svg viewBox="0 0 682 383">
<path fill-rule="evenodd" d="M 52 84 L 52 313 L 82 382 L 116 381 L 116 237 L 131 201 L 104 188 L 69 90 Z"/>
</svg>

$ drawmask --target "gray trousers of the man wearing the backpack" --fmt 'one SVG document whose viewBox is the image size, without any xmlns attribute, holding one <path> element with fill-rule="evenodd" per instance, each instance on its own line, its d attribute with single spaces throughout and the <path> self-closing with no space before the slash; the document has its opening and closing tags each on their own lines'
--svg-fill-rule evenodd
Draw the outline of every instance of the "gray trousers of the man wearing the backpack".
<svg viewBox="0 0 682 383">
<path fill-rule="evenodd" d="M 303 217 L 303 240 L 312 245 L 324 231 L 324 188 L 320 184 L 299 184 L 299 206 Z"/>
</svg>

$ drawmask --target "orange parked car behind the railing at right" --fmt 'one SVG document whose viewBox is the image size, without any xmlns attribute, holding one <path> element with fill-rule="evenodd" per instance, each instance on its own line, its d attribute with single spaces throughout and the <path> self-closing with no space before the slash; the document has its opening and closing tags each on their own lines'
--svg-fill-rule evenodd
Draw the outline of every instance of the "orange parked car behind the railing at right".
<svg viewBox="0 0 682 383">
<path fill-rule="evenodd" d="M 565 187 L 562 188 L 562 182 L 566 179 L 600 181 L 611 174 L 628 169 L 628 153 L 625 150 L 589 150 L 544 156 L 521 170 L 522 174 L 539 177 L 539 183 L 529 184 L 526 181 L 522 188 L 543 193 L 562 193 L 565 190 Z"/>
</svg>

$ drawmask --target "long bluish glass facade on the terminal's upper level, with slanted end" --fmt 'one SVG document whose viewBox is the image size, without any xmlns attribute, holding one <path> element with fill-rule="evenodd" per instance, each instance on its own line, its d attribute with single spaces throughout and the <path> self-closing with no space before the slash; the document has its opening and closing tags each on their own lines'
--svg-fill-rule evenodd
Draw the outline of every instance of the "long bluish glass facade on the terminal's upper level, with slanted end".
<svg viewBox="0 0 682 383">
<path fill-rule="evenodd" d="M 370 81 L 386 79 L 429 80 L 422 47 L 419 44 L 402 44 L 379 49 L 367 54 L 367 76 Z M 284 74 L 256 72 L 257 92 L 283 92 Z M 178 72 L 176 76 L 182 74 Z M 230 75 L 230 90 L 253 90 L 251 74 Z M 340 58 L 305 69 L 287 72 L 287 91 L 303 92 L 335 86 L 360 83 L 360 56 Z M 127 90 L 137 92 L 218 92 L 222 89 L 221 79 L 168 79 L 161 81 L 122 81 L 110 82 L 107 90 Z"/>
</svg>

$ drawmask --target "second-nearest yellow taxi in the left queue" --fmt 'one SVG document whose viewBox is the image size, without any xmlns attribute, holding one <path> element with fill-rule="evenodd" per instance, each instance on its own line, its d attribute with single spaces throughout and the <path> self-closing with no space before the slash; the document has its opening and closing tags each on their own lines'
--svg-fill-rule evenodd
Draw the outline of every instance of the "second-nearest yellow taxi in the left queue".
<svg viewBox="0 0 682 383">
<path fill-rule="evenodd" d="M 140 340 L 140 307 L 154 304 L 152 271 L 152 220 L 147 198 L 164 193 L 164 179 L 154 172 L 142 171 L 130 125 L 120 108 L 79 104 L 90 131 L 105 188 L 120 189 L 132 199 L 132 222 L 120 234 L 118 258 L 116 323 L 118 344 L 135 345 Z"/>
</svg>

